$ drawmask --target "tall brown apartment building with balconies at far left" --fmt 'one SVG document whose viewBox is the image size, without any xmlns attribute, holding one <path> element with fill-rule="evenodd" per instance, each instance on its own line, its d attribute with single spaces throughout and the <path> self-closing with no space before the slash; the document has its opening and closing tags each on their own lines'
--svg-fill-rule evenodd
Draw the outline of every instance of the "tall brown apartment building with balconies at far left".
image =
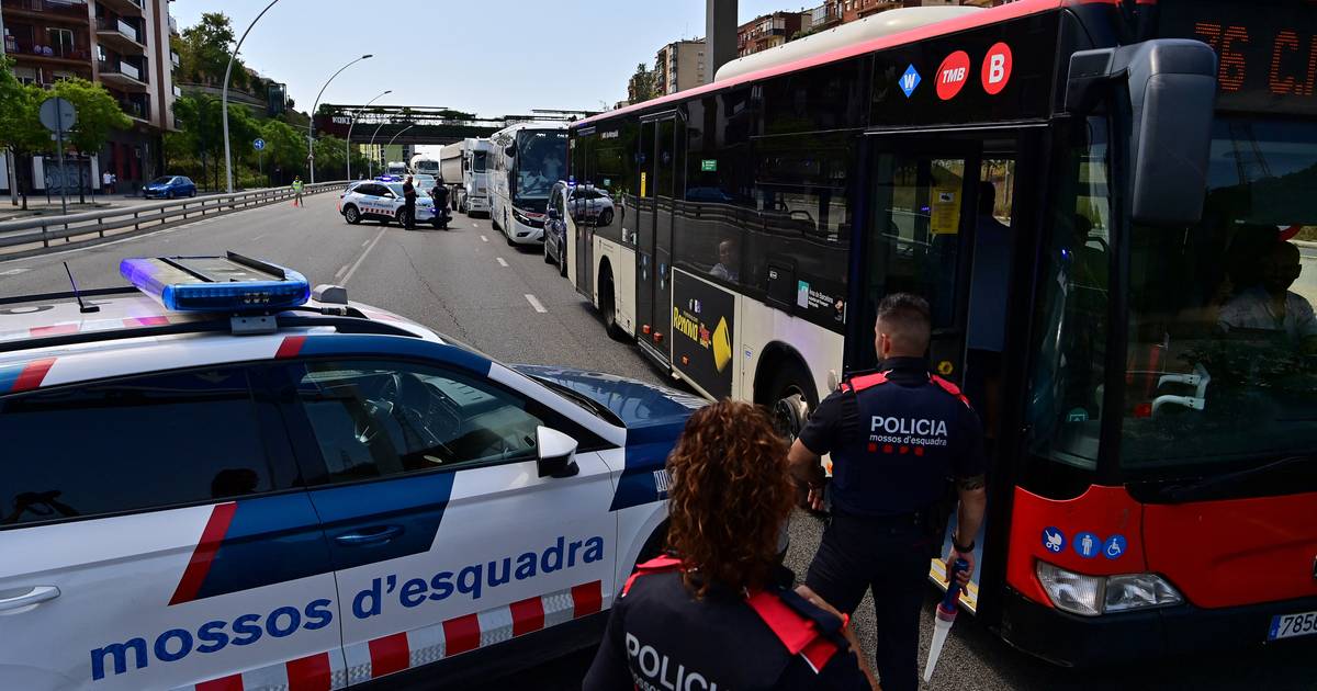
<svg viewBox="0 0 1317 691">
<path fill-rule="evenodd" d="M 14 61 L 14 75 L 26 83 L 50 86 L 66 76 L 99 82 L 132 118 L 132 128 L 115 132 L 105 149 L 80 159 L 63 180 L 70 188 L 99 188 L 103 172 L 119 178 L 119 191 L 136 191 L 163 172 L 162 134 L 174 121 L 174 68 L 170 50 L 176 25 L 169 0 L 3 0 L 4 53 Z M 45 157 L 30 162 L 32 190 L 58 188 L 62 180 Z M 8 168 L 8 166 L 4 166 Z M 20 175 L 24 175 L 20 172 Z M 8 188 L 8 175 L 0 188 Z"/>
</svg>

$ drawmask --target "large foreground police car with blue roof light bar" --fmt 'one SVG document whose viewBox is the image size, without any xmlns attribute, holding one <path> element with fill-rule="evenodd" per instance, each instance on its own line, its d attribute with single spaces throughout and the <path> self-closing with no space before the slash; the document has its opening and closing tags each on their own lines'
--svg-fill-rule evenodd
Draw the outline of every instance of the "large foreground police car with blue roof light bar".
<svg viewBox="0 0 1317 691">
<path fill-rule="evenodd" d="M 533 663 L 656 551 L 698 399 L 504 366 L 232 253 L 120 272 L 0 300 L 0 688 Z"/>
</svg>

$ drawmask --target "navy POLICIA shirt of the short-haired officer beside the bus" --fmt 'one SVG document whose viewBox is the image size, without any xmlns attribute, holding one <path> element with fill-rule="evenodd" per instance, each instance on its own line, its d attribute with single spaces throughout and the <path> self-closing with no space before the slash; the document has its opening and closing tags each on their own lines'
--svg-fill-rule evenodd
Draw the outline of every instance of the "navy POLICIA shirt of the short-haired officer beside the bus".
<svg viewBox="0 0 1317 691">
<path fill-rule="evenodd" d="M 947 478 L 982 475 L 982 426 L 960 391 L 923 358 L 890 358 L 819 404 L 801 442 L 832 454 L 835 512 L 881 517 L 926 509 Z"/>
</svg>

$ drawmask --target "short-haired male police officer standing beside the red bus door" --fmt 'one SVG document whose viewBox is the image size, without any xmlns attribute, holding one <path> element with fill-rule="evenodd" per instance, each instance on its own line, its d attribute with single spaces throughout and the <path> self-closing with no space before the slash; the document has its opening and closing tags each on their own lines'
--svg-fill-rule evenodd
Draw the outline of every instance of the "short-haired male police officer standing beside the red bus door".
<svg viewBox="0 0 1317 691">
<path fill-rule="evenodd" d="M 851 376 L 819 404 L 790 450 L 790 469 L 822 507 L 822 454 L 832 454 L 832 517 L 805 583 L 843 612 L 867 588 L 877 615 L 877 669 L 888 691 L 918 687 L 919 611 L 940 548 L 935 504 L 948 476 L 960 496 L 948 563 L 969 562 L 986 507 L 982 428 L 955 384 L 928 374 L 928 303 L 909 294 L 878 305 L 878 371 Z"/>
</svg>

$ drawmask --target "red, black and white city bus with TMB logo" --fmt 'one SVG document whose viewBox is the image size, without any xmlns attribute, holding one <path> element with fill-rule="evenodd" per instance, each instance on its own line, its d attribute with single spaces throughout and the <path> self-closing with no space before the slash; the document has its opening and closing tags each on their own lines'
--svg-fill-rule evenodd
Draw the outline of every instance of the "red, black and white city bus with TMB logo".
<svg viewBox="0 0 1317 691">
<path fill-rule="evenodd" d="M 1076 666 L 1317 642 L 1317 4 L 900 24 L 573 124 L 615 213 L 566 211 L 568 279 L 788 434 L 919 294 L 985 425 L 992 630 Z"/>
</svg>

